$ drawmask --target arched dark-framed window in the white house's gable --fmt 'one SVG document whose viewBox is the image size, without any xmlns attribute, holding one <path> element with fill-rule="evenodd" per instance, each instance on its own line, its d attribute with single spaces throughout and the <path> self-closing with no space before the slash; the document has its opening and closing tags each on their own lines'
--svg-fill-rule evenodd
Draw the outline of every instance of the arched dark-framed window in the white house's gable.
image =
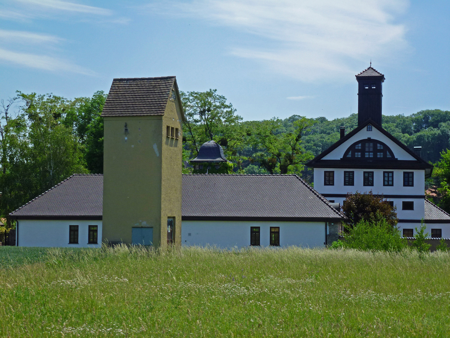
<svg viewBox="0 0 450 338">
<path fill-rule="evenodd" d="M 353 143 L 344 153 L 342 160 L 394 160 L 395 156 L 385 143 L 366 138 Z"/>
</svg>

